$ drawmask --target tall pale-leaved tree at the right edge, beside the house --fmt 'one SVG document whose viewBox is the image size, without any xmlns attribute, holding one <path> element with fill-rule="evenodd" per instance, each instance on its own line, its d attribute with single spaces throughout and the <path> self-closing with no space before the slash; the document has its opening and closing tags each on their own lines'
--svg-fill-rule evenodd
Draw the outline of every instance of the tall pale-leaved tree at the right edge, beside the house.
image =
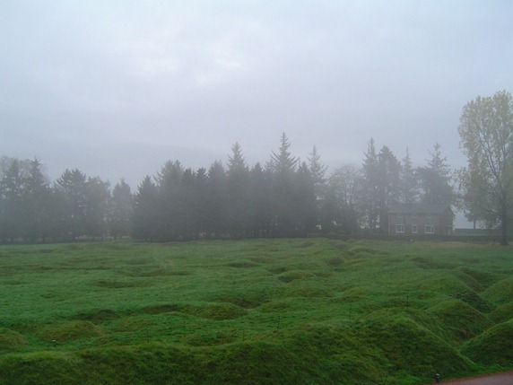
<svg viewBox="0 0 513 385">
<path fill-rule="evenodd" d="M 471 219 L 499 223 L 500 243 L 508 243 L 513 207 L 513 101 L 511 93 L 478 96 L 463 108 L 458 132 L 468 166 L 460 182 Z"/>
</svg>

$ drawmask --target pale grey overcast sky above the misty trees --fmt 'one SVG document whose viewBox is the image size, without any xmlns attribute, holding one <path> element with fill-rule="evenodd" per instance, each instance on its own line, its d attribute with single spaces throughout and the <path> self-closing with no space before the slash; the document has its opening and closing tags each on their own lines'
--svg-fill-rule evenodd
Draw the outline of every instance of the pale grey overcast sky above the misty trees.
<svg viewBox="0 0 513 385">
<path fill-rule="evenodd" d="M 513 89 L 513 1 L 0 1 L 0 155 L 135 190 L 167 160 L 251 166 L 287 134 L 465 164 L 466 102 Z"/>
</svg>

